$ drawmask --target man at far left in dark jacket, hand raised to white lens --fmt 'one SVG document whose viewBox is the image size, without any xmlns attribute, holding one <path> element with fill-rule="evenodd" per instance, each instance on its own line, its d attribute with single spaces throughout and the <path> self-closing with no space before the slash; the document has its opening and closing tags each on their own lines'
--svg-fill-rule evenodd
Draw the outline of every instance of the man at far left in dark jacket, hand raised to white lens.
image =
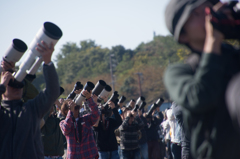
<svg viewBox="0 0 240 159">
<path fill-rule="evenodd" d="M 58 76 L 51 56 L 53 44 L 42 41 L 36 48 L 41 54 L 46 89 L 34 99 L 23 103 L 22 88 L 8 86 L 13 76 L 8 71 L 1 75 L 0 92 L 0 156 L 1 158 L 43 158 L 43 145 L 40 133 L 40 119 L 58 98 Z"/>
</svg>

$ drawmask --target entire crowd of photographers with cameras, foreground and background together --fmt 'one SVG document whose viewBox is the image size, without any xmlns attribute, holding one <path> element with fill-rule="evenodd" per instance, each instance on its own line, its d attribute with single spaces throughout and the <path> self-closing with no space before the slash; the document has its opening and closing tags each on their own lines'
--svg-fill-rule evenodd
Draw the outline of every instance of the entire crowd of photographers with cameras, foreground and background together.
<svg viewBox="0 0 240 159">
<path fill-rule="evenodd" d="M 167 68 L 174 102 L 162 112 L 162 98 L 127 101 L 103 80 L 76 82 L 58 99 L 64 89 L 51 58 L 61 30 L 44 23 L 17 72 L 27 46 L 14 39 L 0 67 L 0 158 L 238 159 L 240 54 L 224 40 L 240 38 L 240 7 L 217 2 L 168 4 L 167 27 L 192 53 Z M 32 81 L 42 62 L 46 88 L 38 92 Z"/>
</svg>

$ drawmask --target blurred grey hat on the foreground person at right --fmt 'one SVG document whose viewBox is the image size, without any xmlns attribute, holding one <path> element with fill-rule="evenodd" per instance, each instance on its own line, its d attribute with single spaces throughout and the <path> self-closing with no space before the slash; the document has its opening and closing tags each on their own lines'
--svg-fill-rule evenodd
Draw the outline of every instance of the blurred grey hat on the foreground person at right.
<svg viewBox="0 0 240 159">
<path fill-rule="evenodd" d="M 191 12 L 206 1 L 212 4 L 219 2 L 219 0 L 171 0 L 169 2 L 165 10 L 165 23 L 175 40 L 179 40 L 182 27 Z"/>
</svg>

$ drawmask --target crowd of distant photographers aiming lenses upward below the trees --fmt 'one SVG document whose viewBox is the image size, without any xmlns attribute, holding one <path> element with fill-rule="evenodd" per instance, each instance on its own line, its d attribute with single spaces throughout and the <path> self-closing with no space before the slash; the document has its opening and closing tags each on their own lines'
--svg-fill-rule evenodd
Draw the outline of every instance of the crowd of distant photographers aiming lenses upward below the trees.
<svg viewBox="0 0 240 159">
<path fill-rule="evenodd" d="M 52 107 L 55 111 L 52 109 L 46 114 L 41 128 L 45 158 L 61 158 L 63 153 L 64 158 L 171 158 L 171 151 L 166 153 L 167 138 L 165 140 L 164 136 L 167 134 L 165 130 L 172 125 L 161 125 L 163 114 L 160 106 L 164 100 L 160 98 L 143 113 L 146 106 L 144 97 L 136 101 L 131 99 L 125 106 L 124 96 L 118 99 L 115 91 L 109 97 L 110 92 L 111 87 L 102 80 L 95 87 L 91 82 L 84 87 L 77 82 L 66 99 L 60 98 L 55 102 Z M 79 96 L 84 97 L 80 103 Z M 168 131 L 166 136 L 172 135 Z M 175 152 L 174 148 L 172 152 Z M 181 151 L 173 154 L 181 158 Z"/>
</svg>

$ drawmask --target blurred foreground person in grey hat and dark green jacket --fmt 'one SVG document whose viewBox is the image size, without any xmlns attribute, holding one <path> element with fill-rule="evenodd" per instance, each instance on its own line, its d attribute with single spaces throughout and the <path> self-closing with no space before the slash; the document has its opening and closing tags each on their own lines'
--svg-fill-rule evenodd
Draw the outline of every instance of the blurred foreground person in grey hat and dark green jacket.
<svg viewBox="0 0 240 159">
<path fill-rule="evenodd" d="M 239 53 L 223 43 L 228 35 L 213 27 L 212 11 L 223 13 L 224 20 L 233 19 L 231 10 L 221 3 L 170 1 L 167 27 L 192 54 L 185 64 L 166 70 L 164 83 L 171 98 L 183 107 L 193 158 L 235 159 L 240 156 L 240 136 L 229 117 L 225 93 L 230 79 L 240 71 Z"/>
</svg>

